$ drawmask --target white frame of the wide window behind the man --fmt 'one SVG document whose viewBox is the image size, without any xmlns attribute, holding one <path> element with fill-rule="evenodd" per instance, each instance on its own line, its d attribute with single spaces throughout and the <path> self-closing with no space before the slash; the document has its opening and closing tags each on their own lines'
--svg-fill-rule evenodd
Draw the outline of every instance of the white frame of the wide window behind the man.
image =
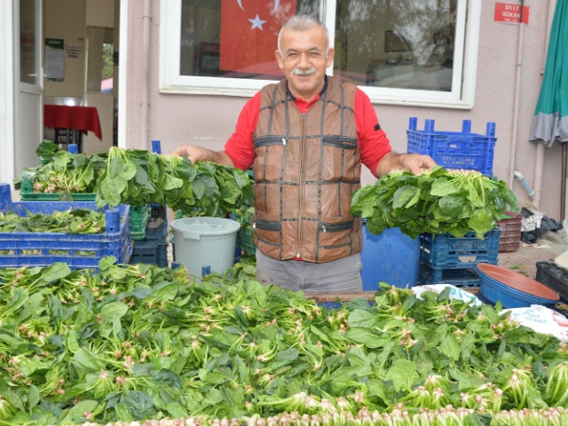
<svg viewBox="0 0 568 426">
<path fill-rule="evenodd" d="M 264 85 L 273 80 L 247 80 L 239 78 L 204 77 L 180 75 L 180 38 L 182 0 L 161 2 L 162 21 L 160 25 L 160 92 L 199 95 L 225 95 L 251 97 Z M 331 46 L 335 38 L 336 0 L 323 0 L 322 16 L 327 23 Z M 453 91 L 419 91 L 386 87 L 358 86 L 366 92 L 375 104 L 430 106 L 456 109 L 471 109 L 475 100 L 477 79 L 477 53 L 481 2 L 457 0 L 455 31 L 454 67 L 452 74 Z M 459 28 L 463 28 L 461 31 Z M 465 40 L 464 40 L 465 38 Z M 327 68 L 327 75 L 333 75 L 333 64 Z"/>
</svg>

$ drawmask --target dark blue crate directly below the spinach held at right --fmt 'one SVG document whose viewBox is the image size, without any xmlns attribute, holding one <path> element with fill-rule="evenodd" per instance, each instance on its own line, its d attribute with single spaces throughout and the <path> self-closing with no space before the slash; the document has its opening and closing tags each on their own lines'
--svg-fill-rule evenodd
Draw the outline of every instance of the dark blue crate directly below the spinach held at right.
<svg viewBox="0 0 568 426">
<path fill-rule="evenodd" d="M 420 236 L 420 261 L 432 269 L 460 269 L 474 267 L 478 262 L 497 264 L 501 229 L 493 228 L 484 239 L 475 233 L 456 238 L 450 233 Z"/>
</svg>

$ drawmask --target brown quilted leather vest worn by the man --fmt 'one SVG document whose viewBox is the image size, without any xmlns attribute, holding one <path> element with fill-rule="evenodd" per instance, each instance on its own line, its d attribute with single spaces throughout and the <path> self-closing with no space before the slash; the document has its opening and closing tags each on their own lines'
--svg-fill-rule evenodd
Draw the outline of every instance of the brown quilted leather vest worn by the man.
<svg viewBox="0 0 568 426">
<path fill-rule="evenodd" d="M 349 213 L 361 170 L 356 91 L 327 77 L 303 115 L 286 79 L 263 88 L 253 170 L 255 244 L 264 255 L 320 263 L 361 251 L 361 218 Z"/>
</svg>

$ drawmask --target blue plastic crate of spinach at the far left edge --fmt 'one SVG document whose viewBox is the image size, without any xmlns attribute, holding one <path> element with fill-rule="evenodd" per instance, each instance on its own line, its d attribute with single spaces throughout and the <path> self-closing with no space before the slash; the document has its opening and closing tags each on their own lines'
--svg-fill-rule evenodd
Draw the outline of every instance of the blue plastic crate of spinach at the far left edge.
<svg viewBox="0 0 568 426">
<path fill-rule="evenodd" d="M 10 185 L 0 184 L 0 211 L 26 216 L 51 214 L 67 209 L 97 209 L 94 201 L 20 201 L 13 202 Z M 49 266 L 65 262 L 71 269 L 98 269 L 99 260 L 114 256 L 119 263 L 130 258 L 130 206 L 106 209 L 106 232 L 75 233 L 0 233 L 0 267 Z"/>
</svg>

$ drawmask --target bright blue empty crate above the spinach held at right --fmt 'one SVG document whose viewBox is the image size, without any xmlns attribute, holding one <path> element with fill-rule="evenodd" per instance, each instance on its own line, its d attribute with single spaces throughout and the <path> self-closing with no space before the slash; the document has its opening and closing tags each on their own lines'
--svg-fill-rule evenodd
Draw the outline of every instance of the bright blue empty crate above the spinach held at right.
<svg viewBox="0 0 568 426">
<path fill-rule="evenodd" d="M 485 135 L 471 133 L 470 120 L 463 120 L 461 132 L 435 131 L 434 120 L 426 120 L 424 130 L 416 130 L 416 125 L 416 117 L 411 117 L 406 130 L 408 153 L 430 155 L 446 169 L 477 170 L 493 176 L 494 122 L 487 122 Z"/>
</svg>

